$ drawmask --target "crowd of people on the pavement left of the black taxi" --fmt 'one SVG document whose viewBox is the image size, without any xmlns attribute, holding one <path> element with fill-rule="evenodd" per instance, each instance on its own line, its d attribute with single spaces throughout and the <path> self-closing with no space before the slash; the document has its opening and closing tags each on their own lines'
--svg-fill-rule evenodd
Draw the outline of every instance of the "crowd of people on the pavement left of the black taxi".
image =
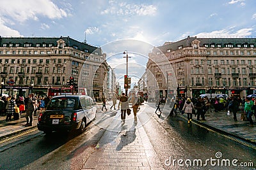
<svg viewBox="0 0 256 170">
<path fill-rule="evenodd" d="M 26 113 L 26 124 L 24 126 L 31 126 L 33 115 L 36 114 L 37 110 L 44 110 L 50 99 L 51 96 L 36 97 L 33 93 L 26 97 L 2 96 L 0 97 L 0 115 L 6 116 L 6 122 L 10 122 L 19 120 L 22 113 Z"/>
</svg>

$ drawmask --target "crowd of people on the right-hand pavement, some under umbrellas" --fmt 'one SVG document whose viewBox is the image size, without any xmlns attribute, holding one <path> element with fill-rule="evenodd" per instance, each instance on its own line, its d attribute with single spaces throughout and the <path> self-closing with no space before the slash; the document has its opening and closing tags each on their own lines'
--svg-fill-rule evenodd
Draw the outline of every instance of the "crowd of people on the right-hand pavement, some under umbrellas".
<svg viewBox="0 0 256 170">
<path fill-rule="evenodd" d="M 167 99 L 166 103 L 170 104 L 172 111 L 170 115 L 179 113 L 186 113 L 188 115 L 188 123 L 191 123 L 192 115 L 194 114 L 196 120 L 206 120 L 205 113 L 212 107 L 215 112 L 225 111 L 232 113 L 234 121 L 237 122 L 237 112 L 241 111 L 241 120 L 249 121 L 249 125 L 253 127 L 253 115 L 256 120 L 256 99 L 250 97 L 208 97 L 186 98 L 186 97 L 172 97 Z M 158 104 L 159 105 L 159 104 Z"/>
</svg>

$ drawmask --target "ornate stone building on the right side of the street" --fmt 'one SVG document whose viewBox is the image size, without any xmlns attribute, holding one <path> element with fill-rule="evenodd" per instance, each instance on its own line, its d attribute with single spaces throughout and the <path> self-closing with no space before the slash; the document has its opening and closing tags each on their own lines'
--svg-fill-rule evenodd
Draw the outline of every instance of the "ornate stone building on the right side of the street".
<svg viewBox="0 0 256 170">
<path fill-rule="evenodd" d="M 166 62 L 161 60 L 166 57 Z M 173 68 L 170 69 L 170 66 Z M 149 53 L 147 69 L 156 79 L 160 94 L 177 96 L 228 94 L 243 97 L 256 87 L 256 38 L 196 38 L 166 42 Z M 175 80 L 170 78 L 175 74 Z M 166 81 L 168 83 L 166 83 Z M 149 84 L 150 85 L 150 84 Z M 152 86 L 152 85 L 151 85 Z M 171 89 L 173 90 L 173 89 Z M 172 93 L 172 91 L 171 91 Z"/>
</svg>

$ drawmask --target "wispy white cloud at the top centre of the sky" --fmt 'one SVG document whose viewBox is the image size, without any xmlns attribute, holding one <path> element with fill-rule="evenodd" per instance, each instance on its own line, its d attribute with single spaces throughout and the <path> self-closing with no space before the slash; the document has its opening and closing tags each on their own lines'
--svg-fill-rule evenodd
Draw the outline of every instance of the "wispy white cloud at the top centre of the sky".
<svg viewBox="0 0 256 170">
<path fill-rule="evenodd" d="M 153 5 L 146 4 L 127 4 L 118 3 L 118 1 L 109 1 L 109 8 L 101 12 L 104 14 L 115 15 L 156 15 L 157 8 Z"/>
</svg>

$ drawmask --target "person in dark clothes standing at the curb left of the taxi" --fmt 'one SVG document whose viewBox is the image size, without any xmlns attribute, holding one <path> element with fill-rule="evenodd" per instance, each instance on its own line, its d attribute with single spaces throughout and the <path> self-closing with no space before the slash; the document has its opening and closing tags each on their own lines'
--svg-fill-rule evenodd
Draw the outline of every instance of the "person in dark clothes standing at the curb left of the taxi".
<svg viewBox="0 0 256 170">
<path fill-rule="evenodd" d="M 25 127 L 32 126 L 33 122 L 33 113 L 36 110 L 37 105 L 37 99 L 35 97 L 35 94 L 31 93 L 28 97 L 28 106 L 26 110 L 26 121 L 27 123 L 24 125 Z"/>
</svg>

